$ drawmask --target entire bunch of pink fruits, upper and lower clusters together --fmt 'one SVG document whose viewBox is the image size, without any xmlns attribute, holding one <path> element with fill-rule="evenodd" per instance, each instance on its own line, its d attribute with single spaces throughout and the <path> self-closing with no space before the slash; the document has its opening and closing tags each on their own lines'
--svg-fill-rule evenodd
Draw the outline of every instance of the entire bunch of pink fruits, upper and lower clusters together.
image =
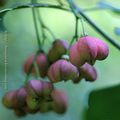
<svg viewBox="0 0 120 120">
<path fill-rule="evenodd" d="M 39 73 L 41 78 L 48 77 L 50 82 L 30 80 L 19 90 L 8 92 L 3 97 L 3 103 L 6 107 L 13 108 L 18 116 L 50 110 L 59 114 L 65 113 L 66 96 L 54 89 L 53 83 L 63 80 L 79 83 L 83 78 L 86 81 L 95 81 L 97 72 L 93 65 L 96 60 L 104 60 L 108 53 L 108 46 L 98 38 L 81 37 L 71 47 L 64 40 L 56 40 L 47 55 L 44 52 L 37 56 L 31 55 L 23 67 L 26 74 L 36 76 Z"/>
</svg>

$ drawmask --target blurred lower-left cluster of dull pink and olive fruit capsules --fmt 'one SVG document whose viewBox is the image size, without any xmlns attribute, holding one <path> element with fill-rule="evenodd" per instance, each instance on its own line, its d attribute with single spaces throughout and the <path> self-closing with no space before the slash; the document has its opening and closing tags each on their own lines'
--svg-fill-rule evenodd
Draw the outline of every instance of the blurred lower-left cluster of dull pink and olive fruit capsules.
<svg viewBox="0 0 120 120">
<path fill-rule="evenodd" d="M 55 89 L 50 82 L 30 80 L 20 89 L 6 93 L 3 97 L 3 104 L 9 109 L 14 109 L 19 117 L 27 113 L 49 111 L 63 114 L 67 109 L 67 98 L 64 92 Z"/>
</svg>

